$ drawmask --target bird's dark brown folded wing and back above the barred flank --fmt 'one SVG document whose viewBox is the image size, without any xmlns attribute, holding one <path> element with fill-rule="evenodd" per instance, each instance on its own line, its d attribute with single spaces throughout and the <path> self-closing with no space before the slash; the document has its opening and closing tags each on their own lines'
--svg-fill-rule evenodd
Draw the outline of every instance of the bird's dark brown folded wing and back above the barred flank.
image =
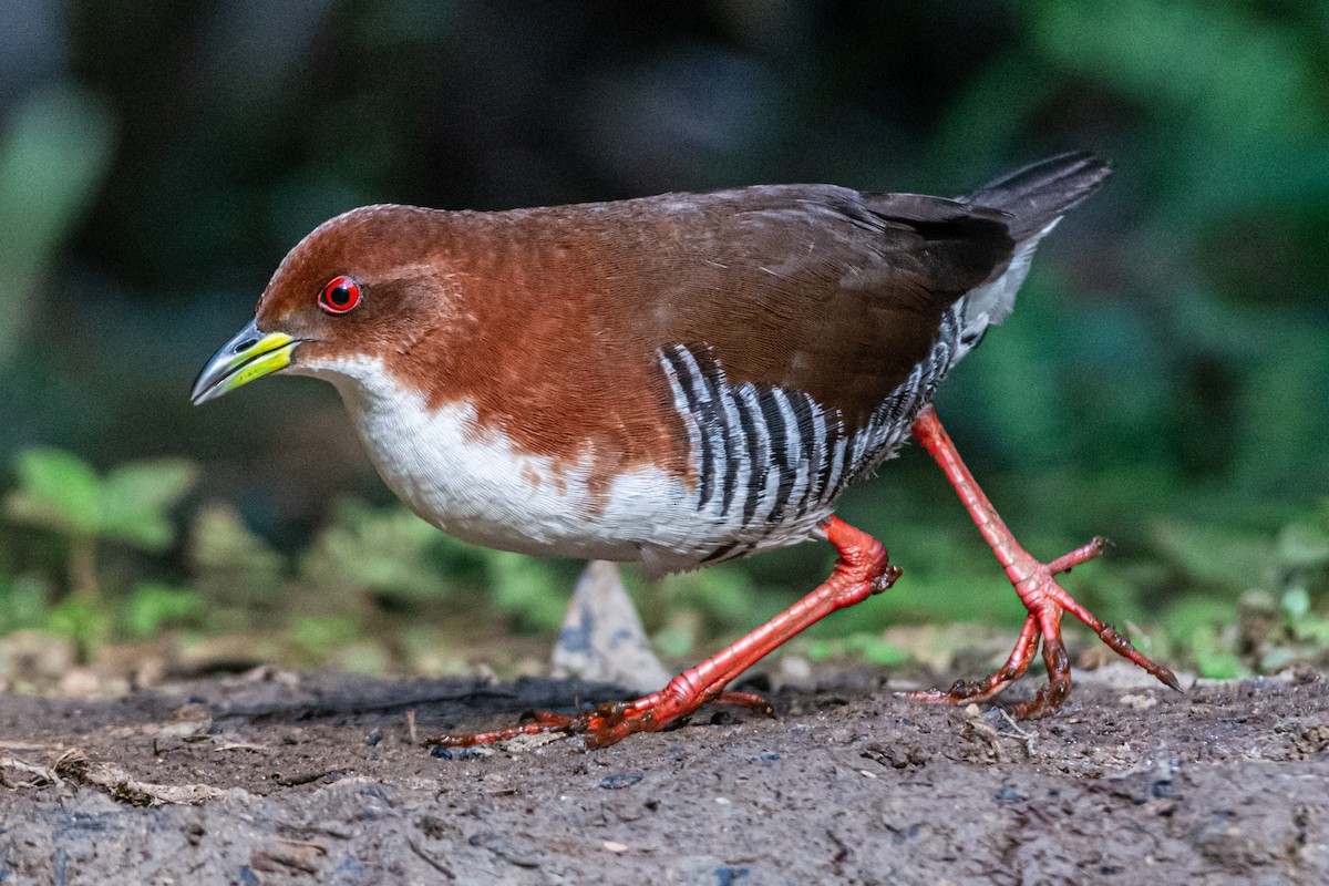
<svg viewBox="0 0 1329 886">
<path fill-rule="evenodd" d="M 731 381 L 805 391 L 849 430 L 926 356 L 942 313 L 1014 250 L 1005 213 L 916 194 L 791 185 L 634 210 L 617 219 L 606 260 L 653 287 L 638 333 L 655 347 L 707 344 Z M 623 251 L 629 230 L 642 242 Z"/>
</svg>

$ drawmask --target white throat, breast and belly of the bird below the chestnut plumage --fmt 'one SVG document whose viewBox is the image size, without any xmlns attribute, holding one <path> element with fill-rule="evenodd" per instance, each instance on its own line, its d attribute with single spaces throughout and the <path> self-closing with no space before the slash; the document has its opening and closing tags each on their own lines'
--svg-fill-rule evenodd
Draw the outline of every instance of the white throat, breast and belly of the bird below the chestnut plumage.
<svg viewBox="0 0 1329 886">
<path fill-rule="evenodd" d="M 658 468 L 619 474 L 599 497 L 593 457 L 577 464 L 517 450 L 481 428 L 469 402 L 431 409 L 379 360 L 299 369 L 334 383 L 383 480 L 416 514 L 464 541 L 546 557 L 642 561 L 653 574 L 695 567 L 731 531 L 698 493 Z M 799 537 L 813 527 L 808 521 Z M 793 530 L 791 526 L 789 530 Z"/>
</svg>

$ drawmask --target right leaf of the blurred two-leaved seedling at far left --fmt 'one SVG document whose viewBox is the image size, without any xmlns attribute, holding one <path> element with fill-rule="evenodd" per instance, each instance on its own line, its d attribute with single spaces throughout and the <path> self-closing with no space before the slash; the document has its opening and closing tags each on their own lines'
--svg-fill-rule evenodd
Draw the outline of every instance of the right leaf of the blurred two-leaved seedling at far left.
<svg viewBox="0 0 1329 886">
<path fill-rule="evenodd" d="M 101 498 L 100 531 L 148 551 L 162 551 L 175 541 L 170 507 L 198 478 L 198 468 L 183 458 L 136 461 L 112 470 Z"/>
</svg>

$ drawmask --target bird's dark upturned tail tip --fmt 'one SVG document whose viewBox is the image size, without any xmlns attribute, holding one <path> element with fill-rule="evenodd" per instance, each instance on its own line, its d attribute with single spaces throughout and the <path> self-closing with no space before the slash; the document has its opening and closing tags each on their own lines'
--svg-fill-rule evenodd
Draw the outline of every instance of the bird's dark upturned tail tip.
<svg viewBox="0 0 1329 886">
<path fill-rule="evenodd" d="M 1010 215 L 1011 238 L 1021 243 L 1037 238 L 1079 205 L 1111 171 L 1106 161 L 1090 151 L 1061 154 L 1003 175 L 960 199 Z"/>
</svg>

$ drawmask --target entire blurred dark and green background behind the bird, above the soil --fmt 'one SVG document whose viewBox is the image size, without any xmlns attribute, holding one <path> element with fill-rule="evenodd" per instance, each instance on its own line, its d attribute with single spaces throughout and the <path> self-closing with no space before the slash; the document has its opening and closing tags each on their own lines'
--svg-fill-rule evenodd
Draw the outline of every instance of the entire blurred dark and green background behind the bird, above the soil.
<svg viewBox="0 0 1329 886">
<path fill-rule="evenodd" d="M 185 402 L 284 251 L 338 211 L 763 181 L 958 193 L 1091 147 L 1112 179 L 938 409 L 1037 555 L 1115 541 L 1070 586 L 1155 652 L 1211 675 L 1322 656 L 1324 4 L 32 0 L 5 16 L 0 632 L 92 652 L 274 631 L 302 660 L 342 646 L 356 667 L 432 671 L 449 624 L 558 623 L 575 566 L 407 515 L 326 385 Z M 946 620 L 1014 634 L 1019 604 L 926 457 L 881 474 L 841 514 L 905 575 L 808 648 L 886 660 L 882 631 Z M 805 546 L 634 592 L 691 655 L 829 561 Z"/>
</svg>

